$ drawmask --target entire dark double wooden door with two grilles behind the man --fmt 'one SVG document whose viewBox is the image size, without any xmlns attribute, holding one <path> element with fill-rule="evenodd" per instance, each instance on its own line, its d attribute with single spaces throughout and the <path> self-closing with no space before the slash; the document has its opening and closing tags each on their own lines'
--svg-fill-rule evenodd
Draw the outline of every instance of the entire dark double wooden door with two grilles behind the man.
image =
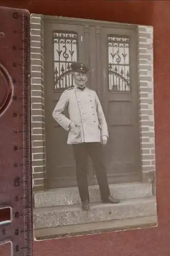
<svg viewBox="0 0 170 256">
<path fill-rule="evenodd" d="M 52 117 L 61 93 L 72 86 L 70 64 L 77 60 L 90 68 L 88 86 L 98 93 L 106 115 L 109 141 L 104 147 L 104 158 L 109 183 L 133 182 L 141 178 L 136 26 L 128 29 L 125 25 L 109 26 L 91 21 L 45 23 L 48 188 L 77 185 L 72 146 L 66 143 L 67 133 Z M 91 161 L 88 180 L 89 185 L 97 183 Z"/>
</svg>

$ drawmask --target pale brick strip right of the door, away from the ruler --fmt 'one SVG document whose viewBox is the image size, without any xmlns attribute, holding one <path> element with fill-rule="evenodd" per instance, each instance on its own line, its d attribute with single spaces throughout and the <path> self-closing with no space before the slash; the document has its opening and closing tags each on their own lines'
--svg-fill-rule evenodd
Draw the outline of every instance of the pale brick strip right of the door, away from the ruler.
<svg viewBox="0 0 170 256">
<path fill-rule="evenodd" d="M 138 26 L 139 115 L 143 181 L 155 181 L 153 28 Z"/>
</svg>

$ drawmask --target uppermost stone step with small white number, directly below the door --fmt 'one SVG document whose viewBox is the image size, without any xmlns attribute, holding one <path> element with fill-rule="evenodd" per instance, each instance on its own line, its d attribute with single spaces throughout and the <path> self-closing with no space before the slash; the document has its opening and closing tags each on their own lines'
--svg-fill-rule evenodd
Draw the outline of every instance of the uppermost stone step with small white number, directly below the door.
<svg viewBox="0 0 170 256">
<path fill-rule="evenodd" d="M 116 199 L 143 198 L 152 196 L 151 183 L 110 184 L 111 195 Z M 89 186 L 90 202 L 100 202 L 99 186 Z M 78 187 L 57 188 L 34 193 L 35 208 L 80 204 Z"/>
</svg>

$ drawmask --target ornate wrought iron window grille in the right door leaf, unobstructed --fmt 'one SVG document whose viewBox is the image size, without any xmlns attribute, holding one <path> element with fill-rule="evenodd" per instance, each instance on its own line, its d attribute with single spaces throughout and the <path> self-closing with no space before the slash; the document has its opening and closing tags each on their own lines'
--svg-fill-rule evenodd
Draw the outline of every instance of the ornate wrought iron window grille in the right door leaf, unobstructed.
<svg viewBox="0 0 170 256">
<path fill-rule="evenodd" d="M 109 91 L 130 91 L 129 37 L 108 36 Z"/>
</svg>

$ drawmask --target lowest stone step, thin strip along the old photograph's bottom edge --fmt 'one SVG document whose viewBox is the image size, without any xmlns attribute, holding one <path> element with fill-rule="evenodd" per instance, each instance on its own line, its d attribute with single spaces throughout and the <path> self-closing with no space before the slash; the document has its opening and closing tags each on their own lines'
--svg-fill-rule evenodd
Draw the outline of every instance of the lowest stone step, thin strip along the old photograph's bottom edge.
<svg viewBox="0 0 170 256">
<path fill-rule="evenodd" d="M 125 231 L 128 229 L 156 227 L 156 215 L 129 218 L 123 220 L 101 221 L 60 227 L 48 227 L 34 230 L 34 240 L 46 240 L 101 232 Z"/>
</svg>

